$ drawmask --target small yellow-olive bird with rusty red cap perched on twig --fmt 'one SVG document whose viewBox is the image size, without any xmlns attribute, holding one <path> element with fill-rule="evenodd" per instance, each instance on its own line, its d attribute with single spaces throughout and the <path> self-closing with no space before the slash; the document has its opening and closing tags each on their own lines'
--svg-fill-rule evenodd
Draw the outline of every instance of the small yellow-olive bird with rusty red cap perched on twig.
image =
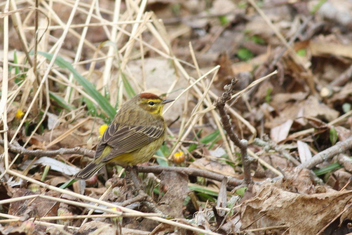
<svg viewBox="0 0 352 235">
<path fill-rule="evenodd" d="M 96 146 L 93 161 L 75 178 L 87 180 L 112 161 L 123 167 L 149 161 L 165 139 L 163 107 L 171 101 L 141 93 L 124 103 Z"/>
</svg>

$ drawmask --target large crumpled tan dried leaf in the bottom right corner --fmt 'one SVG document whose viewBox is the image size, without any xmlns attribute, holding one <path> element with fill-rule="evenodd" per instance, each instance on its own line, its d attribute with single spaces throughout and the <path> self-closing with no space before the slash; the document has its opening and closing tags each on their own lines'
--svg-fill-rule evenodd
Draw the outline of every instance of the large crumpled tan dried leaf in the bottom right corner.
<svg viewBox="0 0 352 235">
<path fill-rule="evenodd" d="M 289 234 L 316 234 L 352 198 L 352 191 L 306 195 L 283 191 L 268 184 L 254 185 L 254 188 L 257 196 L 243 203 L 240 210 L 241 228 L 286 227 L 279 231 L 280 234 L 287 228 Z M 253 234 L 263 234 L 263 231 Z"/>
</svg>

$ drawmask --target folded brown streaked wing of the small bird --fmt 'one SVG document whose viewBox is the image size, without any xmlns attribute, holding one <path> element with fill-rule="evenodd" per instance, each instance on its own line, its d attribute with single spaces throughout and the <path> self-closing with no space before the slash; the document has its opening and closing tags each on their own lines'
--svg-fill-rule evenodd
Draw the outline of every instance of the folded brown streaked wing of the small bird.
<svg viewBox="0 0 352 235">
<path fill-rule="evenodd" d="M 102 159 L 108 161 L 122 153 L 132 152 L 143 145 L 149 144 L 164 135 L 163 124 L 158 126 L 121 126 L 119 123 L 110 125 L 104 132 L 96 147 L 95 158 L 99 157 L 104 148 L 111 146 L 111 151 Z"/>
</svg>

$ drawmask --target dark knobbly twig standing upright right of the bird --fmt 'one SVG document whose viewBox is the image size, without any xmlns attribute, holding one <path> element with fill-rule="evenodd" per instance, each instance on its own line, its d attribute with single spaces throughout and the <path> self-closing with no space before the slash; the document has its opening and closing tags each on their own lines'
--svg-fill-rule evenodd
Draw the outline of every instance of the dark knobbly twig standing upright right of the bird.
<svg viewBox="0 0 352 235">
<path fill-rule="evenodd" d="M 231 84 L 226 85 L 224 87 L 225 92 L 222 94 L 221 97 L 218 98 L 218 100 L 216 100 L 214 102 L 214 105 L 219 110 L 219 113 L 221 116 L 222 127 L 224 127 L 224 129 L 227 132 L 228 137 L 230 137 L 231 141 L 237 147 L 239 147 L 241 150 L 241 160 L 242 160 L 242 165 L 243 165 L 244 183 L 250 184 L 250 183 L 252 183 L 250 166 L 253 161 L 253 158 L 250 157 L 247 152 L 248 141 L 245 139 L 240 140 L 238 135 L 233 131 L 233 128 L 232 128 L 231 122 L 230 122 L 230 116 L 227 115 L 225 108 L 224 108 L 226 102 L 231 99 L 231 95 L 235 90 L 235 84 L 237 82 L 238 82 L 238 79 L 234 78 L 231 81 Z"/>
</svg>

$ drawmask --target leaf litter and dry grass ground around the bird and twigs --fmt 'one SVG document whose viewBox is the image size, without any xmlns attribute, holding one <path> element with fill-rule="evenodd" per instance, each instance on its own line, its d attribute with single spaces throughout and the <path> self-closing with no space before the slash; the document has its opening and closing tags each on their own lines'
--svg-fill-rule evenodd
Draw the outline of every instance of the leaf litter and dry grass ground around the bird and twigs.
<svg viewBox="0 0 352 235">
<path fill-rule="evenodd" d="M 108 166 L 63 193 L 40 182 L 62 186 L 89 158 L 34 158 L 8 152 L 2 145 L 0 234 L 351 233 L 350 147 L 323 156 L 313 171 L 296 167 L 351 136 L 350 2 L 124 1 L 119 14 L 115 2 L 99 1 L 99 9 L 88 13 L 98 6 L 94 2 L 81 2 L 77 8 L 69 1 L 39 3 L 43 37 L 38 52 L 46 58 L 38 57 L 36 70 L 28 51 L 36 40 L 35 14 L 26 10 L 33 5 L 11 3 L 12 25 L 8 32 L 2 27 L 0 35 L 4 43 L 11 38 L 11 51 L 2 47 L 0 53 L 1 94 L 8 94 L 1 96 L 6 104 L 1 114 L 7 113 L 1 128 L 9 127 L 1 139 L 13 144 L 13 138 L 27 150 L 94 150 L 99 127 L 133 94 L 168 93 L 170 99 L 180 96 L 165 113 L 168 137 L 156 159 L 144 165 L 185 166 L 224 179 L 172 170 L 141 173 L 144 191 L 156 203 L 154 211 L 136 201 L 125 207 L 135 214 L 113 218 L 118 212 L 107 209 L 135 198 L 120 166 Z M 5 7 L 6 2 L 0 4 L 1 19 L 6 18 Z M 72 24 L 65 25 L 76 10 Z M 55 59 L 55 43 L 65 27 L 68 33 Z M 80 39 L 85 39 L 82 46 Z M 47 59 L 56 65 L 49 68 Z M 216 64 L 219 69 L 214 69 Z M 10 69 L 8 78 L 4 67 Z M 45 75 L 46 69 L 50 74 Z M 182 93 L 212 69 L 213 83 L 211 74 Z M 240 91 L 274 70 L 276 75 L 227 107 L 234 131 L 250 140 L 249 152 L 259 158 L 251 165 L 254 184 L 234 187 L 227 177 L 243 178 L 240 151 L 219 131 L 212 102 L 233 77 L 239 78 Z M 260 145 L 252 142 L 255 137 Z M 182 152 L 181 157 L 173 157 L 176 152 Z M 96 208 L 93 199 L 100 200 Z M 150 212 L 157 218 L 148 216 Z M 163 220 L 161 214 L 173 220 Z"/>
</svg>

